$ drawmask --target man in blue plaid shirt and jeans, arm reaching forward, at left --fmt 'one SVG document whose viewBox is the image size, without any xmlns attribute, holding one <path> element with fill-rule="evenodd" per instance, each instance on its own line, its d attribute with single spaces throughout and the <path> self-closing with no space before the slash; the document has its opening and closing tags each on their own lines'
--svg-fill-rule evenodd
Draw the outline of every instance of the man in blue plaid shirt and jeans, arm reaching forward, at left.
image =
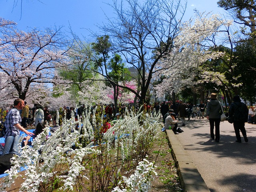
<svg viewBox="0 0 256 192">
<path fill-rule="evenodd" d="M 14 100 L 14 108 L 12 108 L 6 115 L 5 126 L 6 126 L 6 134 L 5 145 L 3 154 L 14 153 L 18 154 L 19 152 L 19 141 L 20 141 L 20 130 L 25 132 L 28 136 L 34 135 L 31 132 L 28 132 L 21 125 L 21 117 L 19 110 L 24 108 L 24 100 L 16 99 Z"/>
</svg>

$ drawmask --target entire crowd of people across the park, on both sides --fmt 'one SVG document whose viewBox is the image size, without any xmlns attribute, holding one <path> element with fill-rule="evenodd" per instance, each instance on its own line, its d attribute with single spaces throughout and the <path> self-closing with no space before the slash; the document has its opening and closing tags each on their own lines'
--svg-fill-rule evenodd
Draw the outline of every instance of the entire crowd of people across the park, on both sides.
<svg viewBox="0 0 256 192">
<path fill-rule="evenodd" d="M 246 104 L 241 102 L 239 96 L 234 96 L 233 101 L 234 102 L 230 105 L 228 114 L 230 118 L 233 118 L 233 125 L 237 138 L 236 141 L 241 142 L 241 131 L 242 135 L 244 136 L 244 140 L 248 142 L 244 123 L 256 123 L 256 106 L 250 106 L 250 110 L 248 110 L 248 107 Z M 69 120 L 72 113 L 76 119 L 82 118 L 83 114 L 92 115 L 96 106 L 98 106 L 98 110 L 95 112 L 96 115 L 98 114 L 99 116 L 102 116 L 102 114 L 104 114 L 102 129 L 99 130 L 100 134 L 106 132 L 111 126 L 113 126 L 113 124 L 115 124 L 117 120 L 124 118 L 124 111 L 126 108 L 132 108 L 132 104 L 119 104 L 118 110 L 115 110 L 114 104 L 102 103 L 91 106 L 91 108 L 83 104 L 76 108 L 76 110 L 74 107 L 64 106 L 60 118 L 62 118 L 62 120 L 63 118 Z M 144 109 L 147 110 L 147 112 L 161 114 L 164 124 L 162 131 L 172 129 L 174 134 L 180 133 L 181 129 L 178 128 L 179 120 L 181 121 L 181 126 L 185 126 L 185 118 L 190 120 L 190 115 L 193 112 L 200 111 L 202 118 L 206 116 L 206 118 L 209 120 L 210 137 L 215 139 L 216 142 L 219 142 L 220 140 L 220 114 L 222 113 L 222 104 L 217 100 L 217 95 L 215 93 L 210 95 L 210 98 L 206 104 L 201 101 L 198 106 L 178 100 L 177 102 L 164 101 L 161 104 L 156 102 L 153 105 L 144 104 Z M 136 106 L 135 110 L 138 110 L 138 106 Z M 56 126 L 56 115 L 54 118 L 52 118 L 47 106 L 43 107 L 39 104 L 34 104 L 34 106 L 30 109 L 26 101 L 21 99 L 14 100 L 14 105 L 10 106 L 10 109 L 6 115 L 6 133 L 4 135 L 5 146 L 3 155 L 10 152 L 18 152 L 17 142 L 19 141 L 20 131 L 25 132 L 28 136 L 34 135 L 33 133 L 28 132 L 28 125 L 37 127 L 38 124 L 50 125 L 50 123 L 52 123 L 52 126 Z"/>
</svg>

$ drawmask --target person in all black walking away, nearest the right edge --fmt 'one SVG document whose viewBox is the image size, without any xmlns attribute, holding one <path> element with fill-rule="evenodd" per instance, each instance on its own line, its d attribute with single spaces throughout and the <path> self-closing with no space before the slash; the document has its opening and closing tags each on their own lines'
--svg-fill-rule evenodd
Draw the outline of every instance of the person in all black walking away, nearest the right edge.
<svg viewBox="0 0 256 192">
<path fill-rule="evenodd" d="M 234 96 L 232 104 L 229 107 L 228 110 L 228 116 L 233 118 L 233 126 L 236 133 L 236 142 L 241 143 L 241 136 L 240 131 L 242 132 L 242 135 L 244 136 L 244 141 L 248 142 L 248 138 L 246 135 L 246 130 L 244 127 L 244 123 L 248 120 L 248 108 L 246 104 L 242 103 L 240 100 L 240 97 L 238 95 Z M 240 130 L 240 131 L 239 131 Z"/>
</svg>

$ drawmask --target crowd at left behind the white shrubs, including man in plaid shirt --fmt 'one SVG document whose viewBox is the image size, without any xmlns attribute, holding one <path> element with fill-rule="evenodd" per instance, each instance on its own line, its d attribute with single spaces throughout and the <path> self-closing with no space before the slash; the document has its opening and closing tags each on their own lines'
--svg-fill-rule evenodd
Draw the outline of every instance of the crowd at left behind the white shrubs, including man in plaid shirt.
<svg viewBox="0 0 256 192">
<path fill-rule="evenodd" d="M 4 120 L 6 129 L 4 134 L 4 143 L 3 145 L 0 144 L 0 173 L 2 174 L 5 170 L 10 168 L 10 159 L 12 156 L 20 155 L 20 144 L 21 146 L 28 145 L 30 138 L 33 137 L 34 139 L 38 134 L 40 134 L 45 128 L 45 124 L 50 125 L 51 123 L 50 132 L 53 133 L 60 127 L 58 126 L 60 119 L 63 122 L 64 118 L 69 120 L 72 115 L 74 115 L 75 119 L 77 120 L 87 115 L 92 117 L 92 114 L 94 113 L 95 116 L 98 117 L 101 117 L 102 115 L 104 116 L 102 124 L 99 127 L 94 127 L 96 134 L 98 136 L 102 136 L 109 128 L 111 128 L 111 126 L 116 124 L 119 120 L 122 120 L 122 118 L 124 118 L 126 108 L 131 107 L 131 105 L 120 104 L 118 106 L 118 110 L 115 110 L 113 104 L 96 104 L 91 106 L 91 108 L 90 106 L 85 106 L 83 104 L 76 109 L 73 107 L 64 106 L 62 113 L 59 114 L 59 122 L 57 123 L 56 115 L 53 115 L 52 117 L 47 106 L 44 106 L 43 108 L 39 104 L 34 104 L 33 108 L 30 109 L 26 101 L 22 99 L 14 100 L 14 105 L 10 107 Z M 115 111 L 117 112 L 115 113 Z M 35 130 L 30 132 L 28 130 L 28 125 L 35 126 Z M 78 124 L 75 129 L 78 130 Z M 20 131 L 27 135 L 23 138 L 22 143 L 20 143 Z"/>
</svg>

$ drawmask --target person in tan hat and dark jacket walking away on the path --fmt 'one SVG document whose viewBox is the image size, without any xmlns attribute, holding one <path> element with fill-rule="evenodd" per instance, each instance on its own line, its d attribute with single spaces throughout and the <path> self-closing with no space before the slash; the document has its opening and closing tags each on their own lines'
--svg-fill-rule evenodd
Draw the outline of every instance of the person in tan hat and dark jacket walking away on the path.
<svg viewBox="0 0 256 192">
<path fill-rule="evenodd" d="M 220 102 L 217 100 L 217 94 L 212 93 L 210 95 L 210 101 L 207 102 L 206 106 L 206 118 L 210 123 L 210 135 L 214 139 L 214 124 L 215 124 L 215 141 L 220 141 Z"/>
</svg>

